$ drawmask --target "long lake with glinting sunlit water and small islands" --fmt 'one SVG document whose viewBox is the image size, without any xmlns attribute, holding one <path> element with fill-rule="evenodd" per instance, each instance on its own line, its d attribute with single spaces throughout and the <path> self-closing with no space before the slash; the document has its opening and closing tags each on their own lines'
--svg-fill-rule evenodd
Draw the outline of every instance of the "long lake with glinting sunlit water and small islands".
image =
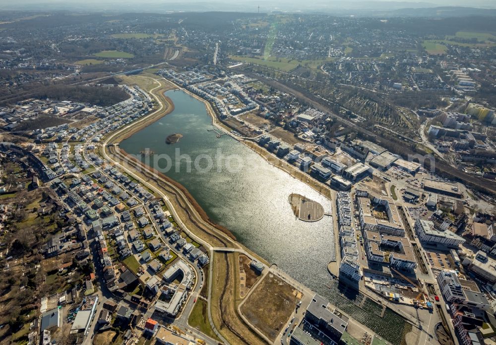
<svg viewBox="0 0 496 345">
<path fill-rule="evenodd" d="M 165 95 L 174 102 L 174 111 L 125 139 L 120 147 L 135 155 L 145 148 L 152 150 L 154 155 L 141 159 L 185 186 L 208 216 L 239 242 L 389 342 L 401 344 L 409 330 L 401 317 L 388 309 L 380 318 L 373 306 L 359 308 L 354 296 L 343 295 L 327 272 L 328 262 L 335 258 L 332 218 L 298 220 L 288 197 L 306 196 L 326 212 L 331 210 L 330 200 L 243 143 L 208 131 L 213 129 L 212 119 L 199 100 L 182 90 Z M 183 138 L 166 144 L 173 133 Z"/>
</svg>

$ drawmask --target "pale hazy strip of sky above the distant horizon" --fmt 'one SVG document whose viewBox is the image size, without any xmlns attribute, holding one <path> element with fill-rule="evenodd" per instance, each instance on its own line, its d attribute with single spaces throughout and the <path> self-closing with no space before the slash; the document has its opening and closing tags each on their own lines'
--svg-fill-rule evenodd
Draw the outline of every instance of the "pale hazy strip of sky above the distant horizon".
<svg viewBox="0 0 496 345">
<path fill-rule="evenodd" d="M 496 0 L 0 0 L 2 9 L 165 11 L 165 10 L 234 10 L 315 11 L 334 9 L 398 9 L 434 6 L 496 8 Z"/>
</svg>

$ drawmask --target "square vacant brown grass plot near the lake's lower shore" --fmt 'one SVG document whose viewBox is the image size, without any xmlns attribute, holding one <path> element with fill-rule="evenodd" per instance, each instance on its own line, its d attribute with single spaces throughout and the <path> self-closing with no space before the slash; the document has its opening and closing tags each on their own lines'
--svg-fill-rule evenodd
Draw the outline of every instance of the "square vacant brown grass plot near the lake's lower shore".
<svg viewBox="0 0 496 345">
<path fill-rule="evenodd" d="M 291 317 L 300 293 L 278 277 L 267 274 L 241 306 L 241 312 L 274 341 Z"/>
</svg>

